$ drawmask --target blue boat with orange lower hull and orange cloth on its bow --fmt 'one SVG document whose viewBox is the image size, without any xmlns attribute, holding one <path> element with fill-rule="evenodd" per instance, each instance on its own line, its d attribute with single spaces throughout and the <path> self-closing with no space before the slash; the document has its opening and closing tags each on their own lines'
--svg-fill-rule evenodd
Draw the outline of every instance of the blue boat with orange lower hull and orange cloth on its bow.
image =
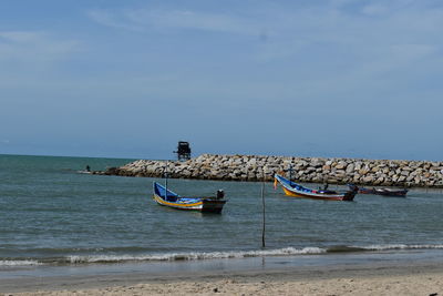
<svg viewBox="0 0 443 296">
<path fill-rule="evenodd" d="M 323 201 L 352 201 L 358 192 L 358 188 L 356 186 L 351 187 L 350 191 L 343 193 L 329 190 L 316 191 L 307 188 L 290 180 L 287 180 L 286 177 L 279 174 L 275 174 L 274 178 L 275 178 L 274 187 L 277 187 L 277 184 L 280 183 L 285 194 L 293 197 L 305 197 L 305 198 L 323 200 Z"/>
</svg>

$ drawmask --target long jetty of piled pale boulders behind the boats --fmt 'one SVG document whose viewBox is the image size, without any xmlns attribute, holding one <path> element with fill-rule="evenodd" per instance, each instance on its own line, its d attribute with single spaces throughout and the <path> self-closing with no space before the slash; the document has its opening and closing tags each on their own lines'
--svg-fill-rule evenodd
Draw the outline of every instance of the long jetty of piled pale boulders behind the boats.
<svg viewBox="0 0 443 296">
<path fill-rule="evenodd" d="M 166 169 L 167 166 L 167 169 Z M 443 162 L 203 154 L 186 162 L 140 160 L 96 174 L 174 178 L 271 181 L 285 171 L 298 182 L 443 187 Z"/>
</svg>

